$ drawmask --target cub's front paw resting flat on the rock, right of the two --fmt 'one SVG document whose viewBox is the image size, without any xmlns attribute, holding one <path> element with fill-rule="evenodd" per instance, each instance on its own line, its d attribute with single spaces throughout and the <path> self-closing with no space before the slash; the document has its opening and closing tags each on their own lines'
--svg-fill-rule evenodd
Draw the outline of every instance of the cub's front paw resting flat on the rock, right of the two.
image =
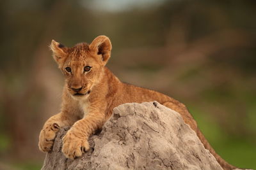
<svg viewBox="0 0 256 170">
<path fill-rule="evenodd" d="M 81 157 L 90 148 L 87 139 L 78 137 L 72 129 L 62 138 L 62 144 L 62 152 L 70 159 Z"/>
</svg>

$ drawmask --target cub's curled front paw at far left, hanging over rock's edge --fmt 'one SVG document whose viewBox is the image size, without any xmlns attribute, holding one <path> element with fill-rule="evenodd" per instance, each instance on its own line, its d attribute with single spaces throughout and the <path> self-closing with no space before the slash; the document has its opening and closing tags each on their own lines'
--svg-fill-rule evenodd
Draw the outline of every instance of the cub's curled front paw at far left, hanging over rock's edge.
<svg viewBox="0 0 256 170">
<path fill-rule="evenodd" d="M 52 145 L 56 137 L 56 132 L 58 132 L 60 126 L 58 124 L 45 125 L 39 135 L 39 150 L 42 152 L 50 152 L 52 150 Z"/>
</svg>

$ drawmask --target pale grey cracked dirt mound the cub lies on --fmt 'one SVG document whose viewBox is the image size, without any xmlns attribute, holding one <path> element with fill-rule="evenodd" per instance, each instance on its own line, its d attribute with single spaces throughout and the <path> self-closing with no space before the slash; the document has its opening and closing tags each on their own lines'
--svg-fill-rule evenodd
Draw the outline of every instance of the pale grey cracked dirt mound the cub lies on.
<svg viewBox="0 0 256 170">
<path fill-rule="evenodd" d="M 75 160 L 61 153 L 61 129 L 42 169 L 222 169 L 179 113 L 155 102 L 113 110 L 90 150 Z"/>
</svg>

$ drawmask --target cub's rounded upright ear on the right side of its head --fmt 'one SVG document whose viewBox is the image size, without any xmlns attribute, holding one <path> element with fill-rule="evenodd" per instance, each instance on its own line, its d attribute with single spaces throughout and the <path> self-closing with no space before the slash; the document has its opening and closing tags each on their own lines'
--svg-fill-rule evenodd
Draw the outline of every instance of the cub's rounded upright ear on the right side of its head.
<svg viewBox="0 0 256 170">
<path fill-rule="evenodd" d="M 101 55 L 104 65 L 107 64 L 111 55 L 111 41 L 107 36 L 97 36 L 89 46 L 91 52 Z"/>
</svg>

